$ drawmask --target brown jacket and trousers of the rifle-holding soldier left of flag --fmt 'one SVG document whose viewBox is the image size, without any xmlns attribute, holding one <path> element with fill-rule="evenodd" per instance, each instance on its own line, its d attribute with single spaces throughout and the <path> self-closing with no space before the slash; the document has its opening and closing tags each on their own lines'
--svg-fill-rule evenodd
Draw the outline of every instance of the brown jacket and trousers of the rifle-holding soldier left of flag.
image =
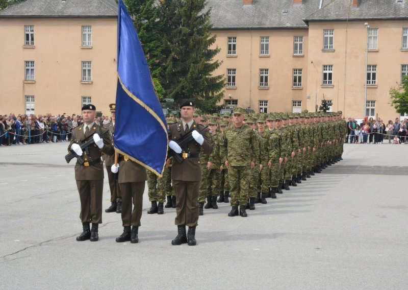
<svg viewBox="0 0 408 290">
<path fill-rule="evenodd" d="M 71 145 L 84 140 L 84 125 L 72 130 L 72 138 L 68 145 L 68 152 L 71 152 Z M 103 133 L 107 129 L 94 124 L 89 131 L 89 136 L 95 133 Z M 92 138 L 92 137 L 91 137 Z M 104 134 L 104 147 L 99 149 L 95 144 L 89 147 L 89 155 L 84 152 L 82 158 L 85 162 L 99 162 L 90 165 L 75 165 L 75 180 L 77 181 L 78 192 L 81 201 L 80 219 L 82 223 L 102 223 L 102 194 L 104 189 L 104 165 L 100 160 L 102 153 L 113 155 L 112 138 L 109 133 Z M 84 163 L 86 164 L 86 163 Z"/>
</svg>

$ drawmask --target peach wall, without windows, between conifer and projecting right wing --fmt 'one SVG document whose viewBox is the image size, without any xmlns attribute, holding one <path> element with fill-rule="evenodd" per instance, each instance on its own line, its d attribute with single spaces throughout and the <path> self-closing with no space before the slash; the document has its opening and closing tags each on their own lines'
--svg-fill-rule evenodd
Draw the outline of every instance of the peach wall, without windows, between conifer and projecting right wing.
<svg viewBox="0 0 408 290">
<path fill-rule="evenodd" d="M 305 108 L 307 84 L 307 29 L 214 30 L 217 55 L 222 61 L 215 75 L 227 75 L 236 68 L 236 88 L 225 88 L 225 100 L 238 100 L 238 106 L 259 112 L 259 101 L 268 101 L 268 112 L 292 111 L 292 101 L 302 101 Z M 237 56 L 227 55 L 228 37 L 237 37 Z M 269 56 L 260 56 L 260 38 L 269 36 Z M 303 56 L 293 56 L 294 36 L 303 36 Z M 260 69 L 269 69 L 269 88 L 259 88 Z M 303 71 L 302 87 L 292 88 L 293 69 Z M 230 98 L 231 95 L 231 98 Z"/>
</svg>

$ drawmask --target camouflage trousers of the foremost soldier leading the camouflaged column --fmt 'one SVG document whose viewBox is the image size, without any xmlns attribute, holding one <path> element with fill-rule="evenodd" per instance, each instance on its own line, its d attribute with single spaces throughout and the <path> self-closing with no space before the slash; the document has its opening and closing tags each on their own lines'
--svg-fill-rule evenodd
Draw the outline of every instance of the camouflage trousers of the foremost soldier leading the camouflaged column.
<svg viewBox="0 0 408 290">
<path fill-rule="evenodd" d="M 248 189 L 250 169 L 248 166 L 230 166 L 228 180 L 230 181 L 231 205 L 243 205 L 248 203 Z"/>
</svg>

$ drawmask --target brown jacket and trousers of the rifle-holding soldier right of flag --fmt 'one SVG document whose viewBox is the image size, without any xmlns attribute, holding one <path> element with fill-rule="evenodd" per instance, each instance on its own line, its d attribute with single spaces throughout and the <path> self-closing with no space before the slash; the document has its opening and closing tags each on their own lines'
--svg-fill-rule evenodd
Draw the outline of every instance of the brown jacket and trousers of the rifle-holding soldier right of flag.
<svg viewBox="0 0 408 290">
<path fill-rule="evenodd" d="M 202 128 L 202 125 L 193 122 L 191 128 L 185 132 L 182 122 L 171 124 L 169 126 L 169 140 L 177 140 L 191 130 L 201 130 Z M 200 148 L 202 147 L 206 154 L 211 154 L 213 151 L 207 132 L 201 132 L 201 134 L 204 137 L 201 146 L 194 140 L 187 144 L 190 155 L 194 157 L 188 157 L 182 163 L 174 161 L 171 168 L 171 180 L 177 201 L 177 215 L 174 224 L 177 226 L 194 227 L 198 224 L 198 190 L 201 180 Z"/>
</svg>

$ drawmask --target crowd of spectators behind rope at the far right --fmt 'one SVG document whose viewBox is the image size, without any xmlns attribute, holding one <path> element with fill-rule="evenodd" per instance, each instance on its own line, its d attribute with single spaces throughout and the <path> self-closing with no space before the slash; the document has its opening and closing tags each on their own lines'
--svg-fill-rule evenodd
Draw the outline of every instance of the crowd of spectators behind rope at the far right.
<svg viewBox="0 0 408 290">
<path fill-rule="evenodd" d="M 406 118 L 401 122 L 399 118 L 395 118 L 394 123 L 389 120 L 387 124 L 381 118 L 374 120 L 372 117 L 365 117 L 360 124 L 354 118 L 348 118 L 345 143 L 380 144 L 384 139 L 388 139 L 390 144 L 405 144 L 408 143 L 407 127 Z"/>
</svg>

